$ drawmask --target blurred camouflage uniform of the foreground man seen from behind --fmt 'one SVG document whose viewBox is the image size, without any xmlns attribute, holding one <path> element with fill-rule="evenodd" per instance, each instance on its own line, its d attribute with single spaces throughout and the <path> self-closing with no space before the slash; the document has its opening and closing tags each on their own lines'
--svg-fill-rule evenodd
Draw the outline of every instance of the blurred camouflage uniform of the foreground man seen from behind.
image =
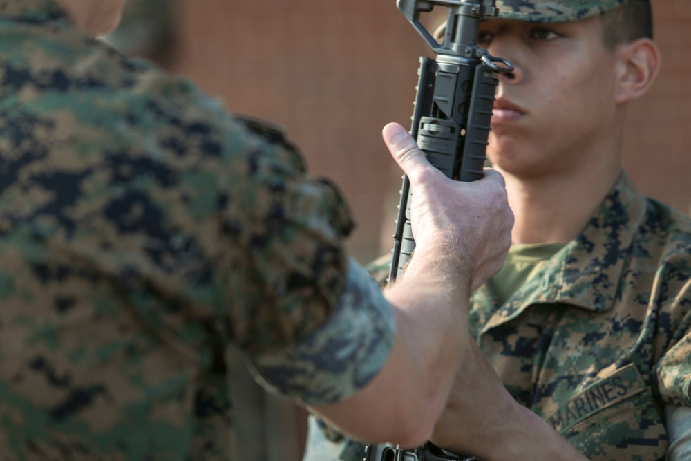
<svg viewBox="0 0 691 461">
<path fill-rule="evenodd" d="M 0 2 L 0 459 L 231 460 L 224 355 L 307 404 L 393 320 L 350 212 L 277 129 Z"/>
</svg>

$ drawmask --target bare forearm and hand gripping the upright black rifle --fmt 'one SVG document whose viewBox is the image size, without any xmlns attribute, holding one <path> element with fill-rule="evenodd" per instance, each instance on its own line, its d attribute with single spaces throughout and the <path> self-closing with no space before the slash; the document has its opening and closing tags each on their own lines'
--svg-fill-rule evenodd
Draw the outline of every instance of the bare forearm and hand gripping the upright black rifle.
<svg viewBox="0 0 691 461">
<path fill-rule="evenodd" d="M 513 214 L 496 171 L 471 186 L 431 166 L 402 126 L 387 125 L 384 140 L 415 191 L 415 256 L 385 293 L 395 307 L 394 345 L 361 391 L 314 410 L 354 438 L 415 446 L 443 411 L 466 354 L 471 289 L 502 267 Z"/>
</svg>

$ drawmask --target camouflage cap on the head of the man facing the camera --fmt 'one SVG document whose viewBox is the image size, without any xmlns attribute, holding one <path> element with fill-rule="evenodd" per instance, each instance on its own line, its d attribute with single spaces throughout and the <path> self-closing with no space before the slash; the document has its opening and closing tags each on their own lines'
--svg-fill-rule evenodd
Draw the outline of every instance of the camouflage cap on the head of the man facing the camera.
<svg viewBox="0 0 691 461">
<path fill-rule="evenodd" d="M 499 19 L 537 23 L 580 21 L 620 6 L 627 0 L 497 0 Z"/>
</svg>

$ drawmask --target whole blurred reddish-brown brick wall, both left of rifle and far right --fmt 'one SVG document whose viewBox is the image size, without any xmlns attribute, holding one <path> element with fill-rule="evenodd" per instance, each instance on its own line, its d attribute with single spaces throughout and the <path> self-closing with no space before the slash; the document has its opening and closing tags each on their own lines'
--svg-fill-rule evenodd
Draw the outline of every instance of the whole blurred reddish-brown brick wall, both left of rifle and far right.
<svg viewBox="0 0 691 461">
<path fill-rule="evenodd" d="M 173 69 L 232 111 L 282 124 L 310 171 L 334 179 L 366 262 L 390 248 L 399 171 L 381 142 L 410 124 L 422 38 L 394 0 L 182 3 Z M 663 68 L 631 106 L 625 167 L 645 194 L 691 209 L 691 1 L 653 0 Z M 385 198 L 388 196 L 388 200 Z M 386 235 L 384 243 L 381 238 Z"/>
</svg>

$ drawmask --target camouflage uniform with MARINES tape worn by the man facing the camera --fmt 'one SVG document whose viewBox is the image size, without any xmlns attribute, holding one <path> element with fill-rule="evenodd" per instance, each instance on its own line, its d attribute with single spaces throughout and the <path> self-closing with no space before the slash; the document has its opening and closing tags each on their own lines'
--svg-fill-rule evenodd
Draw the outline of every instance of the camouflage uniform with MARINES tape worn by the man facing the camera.
<svg viewBox="0 0 691 461">
<path fill-rule="evenodd" d="M 379 283 L 390 258 L 369 267 Z M 473 292 L 477 344 L 509 393 L 589 460 L 663 460 L 665 405 L 691 407 L 691 219 L 624 173 L 541 267 L 504 305 L 491 282 Z M 312 452 L 327 438 L 357 460 L 347 453 L 361 445 L 334 431 Z"/>
</svg>

